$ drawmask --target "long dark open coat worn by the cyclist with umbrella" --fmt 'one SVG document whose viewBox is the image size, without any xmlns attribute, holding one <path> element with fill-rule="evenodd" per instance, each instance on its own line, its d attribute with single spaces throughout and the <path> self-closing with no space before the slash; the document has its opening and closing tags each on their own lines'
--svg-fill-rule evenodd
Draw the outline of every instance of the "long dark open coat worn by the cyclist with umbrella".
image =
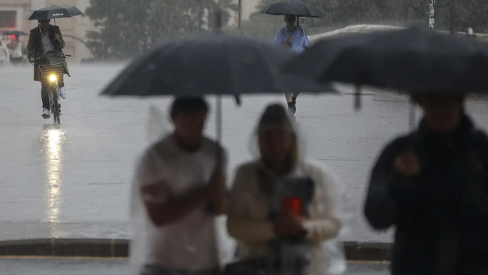
<svg viewBox="0 0 488 275">
<path fill-rule="evenodd" d="M 49 25 L 47 32 L 55 51 L 62 52 L 62 49 L 65 48 L 65 40 L 62 39 L 60 27 Z M 56 41 L 54 34 L 58 34 L 60 36 L 60 39 Z M 34 29 L 31 29 L 29 35 L 29 42 L 27 42 L 27 55 L 29 58 L 43 57 L 44 51 L 42 48 L 41 35 L 42 34 L 41 34 L 41 29 L 39 29 L 39 25 L 37 27 L 34 27 Z M 68 74 L 68 76 L 70 76 L 66 60 L 64 61 L 64 65 L 65 65 L 65 74 Z M 39 67 L 35 65 L 34 65 L 34 81 L 41 81 L 41 74 L 39 72 Z"/>
</svg>

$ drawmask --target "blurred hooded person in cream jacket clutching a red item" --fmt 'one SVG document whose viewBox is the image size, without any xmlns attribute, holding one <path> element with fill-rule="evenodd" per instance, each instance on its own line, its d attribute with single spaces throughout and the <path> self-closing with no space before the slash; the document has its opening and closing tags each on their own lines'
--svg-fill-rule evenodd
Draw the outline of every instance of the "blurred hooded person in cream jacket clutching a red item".
<svg viewBox="0 0 488 275">
<path fill-rule="evenodd" d="M 327 274 L 330 255 L 323 242 L 334 239 L 341 229 L 339 197 L 334 192 L 337 183 L 332 173 L 299 156 L 297 131 L 283 106 L 266 108 L 256 135 L 259 156 L 237 168 L 229 199 L 227 230 L 238 241 L 238 258 L 243 263 L 264 259 L 262 264 L 257 263 L 257 268 L 263 268 L 269 265 L 267 260 L 280 257 L 276 255 L 276 242 L 300 239 L 310 245 L 306 274 Z M 270 204 L 276 186 L 296 176 L 310 177 L 315 183 L 309 217 L 287 211 L 273 213 Z M 283 264 L 283 260 L 278 262 Z"/>
</svg>

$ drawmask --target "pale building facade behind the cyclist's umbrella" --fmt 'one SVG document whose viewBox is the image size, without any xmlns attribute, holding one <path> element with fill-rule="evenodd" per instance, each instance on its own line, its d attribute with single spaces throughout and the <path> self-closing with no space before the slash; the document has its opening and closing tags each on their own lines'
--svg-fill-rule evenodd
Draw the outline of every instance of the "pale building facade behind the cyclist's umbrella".
<svg viewBox="0 0 488 275">
<path fill-rule="evenodd" d="M 8 30 L 21 30 L 29 34 L 30 29 L 37 26 L 37 21 L 27 21 L 25 17 L 34 9 L 46 6 L 76 6 L 84 13 L 90 6 L 90 0 L 0 0 L 0 33 Z M 54 21 L 51 20 L 51 24 Z M 93 58 L 90 50 L 83 44 L 86 42 L 86 32 L 95 30 L 93 22 L 84 16 L 74 18 L 61 18 L 56 20 L 65 36 L 65 53 L 73 56 L 73 60 L 79 61 Z M 76 39 L 74 39 L 76 37 Z M 4 37 L 8 43 L 8 37 Z M 27 45 L 28 36 L 20 36 L 23 46 Z M 80 39 L 81 41 L 79 41 Z"/>
</svg>

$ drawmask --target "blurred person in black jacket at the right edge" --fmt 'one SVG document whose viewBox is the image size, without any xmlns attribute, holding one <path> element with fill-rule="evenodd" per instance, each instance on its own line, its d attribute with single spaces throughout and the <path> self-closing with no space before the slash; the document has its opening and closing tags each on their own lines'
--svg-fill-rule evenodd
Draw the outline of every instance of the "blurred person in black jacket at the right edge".
<svg viewBox="0 0 488 275">
<path fill-rule="evenodd" d="M 381 152 L 365 216 L 375 229 L 395 227 L 393 275 L 488 274 L 488 137 L 464 95 L 412 99 L 419 128 Z"/>
</svg>

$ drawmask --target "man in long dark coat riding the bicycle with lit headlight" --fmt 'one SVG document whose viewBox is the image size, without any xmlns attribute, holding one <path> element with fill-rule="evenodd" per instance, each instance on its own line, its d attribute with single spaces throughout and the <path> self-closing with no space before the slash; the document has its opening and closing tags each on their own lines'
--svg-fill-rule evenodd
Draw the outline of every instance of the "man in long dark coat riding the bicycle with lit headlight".
<svg viewBox="0 0 488 275">
<path fill-rule="evenodd" d="M 27 43 L 27 54 L 29 56 L 29 62 L 39 62 L 43 58 L 50 58 L 55 55 L 64 55 L 62 49 L 65 48 L 65 40 L 62 39 L 60 27 L 50 25 L 50 20 L 38 20 L 39 25 L 34 29 L 31 29 L 29 35 L 29 42 Z M 65 74 L 69 75 L 68 65 L 66 60 L 64 62 Z M 48 88 L 49 83 L 46 79 L 43 79 L 38 66 L 34 66 L 34 81 L 41 82 L 41 98 L 44 119 L 48 119 L 49 115 L 49 95 Z M 65 83 L 63 78 L 57 80 L 59 86 L 60 97 L 66 98 Z"/>
</svg>

